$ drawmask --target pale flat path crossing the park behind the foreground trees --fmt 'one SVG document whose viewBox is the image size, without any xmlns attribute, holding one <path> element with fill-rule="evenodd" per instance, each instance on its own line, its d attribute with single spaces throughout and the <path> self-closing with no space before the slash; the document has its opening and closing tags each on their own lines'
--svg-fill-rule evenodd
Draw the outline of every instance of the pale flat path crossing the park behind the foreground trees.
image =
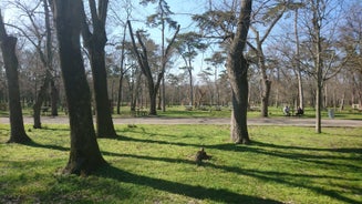
<svg viewBox="0 0 362 204">
<path fill-rule="evenodd" d="M 42 124 L 69 124 L 66 116 L 42 116 Z M 229 119 L 169 119 L 169 118 L 126 118 L 113 119 L 114 124 L 229 124 Z M 9 124 L 9 118 L 0 118 L 0 123 Z M 25 124 L 32 124 L 33 119 L 24 118 Z M 290 125 L 290 126 L 314 126 L 314 119 L 298 119 L 298 118 L 278 118 L 278 119 L 248 119 L 248 125 Z M 322 126 L 362 126 L 361 120 L 338 120 L 324 119 Z"/>
</svg>

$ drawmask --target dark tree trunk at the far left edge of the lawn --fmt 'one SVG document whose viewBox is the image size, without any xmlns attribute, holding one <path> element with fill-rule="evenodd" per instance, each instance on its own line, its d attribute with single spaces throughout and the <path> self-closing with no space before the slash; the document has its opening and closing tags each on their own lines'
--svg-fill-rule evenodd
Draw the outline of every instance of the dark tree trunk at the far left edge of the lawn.
<svg viewBox="0 0 362 204">
<path fill-rule="evenodd" d="M 9 111 L 10 111 L 10 140 L 9 143 L 25 143 L 31 141 L 27 135 L 22 119 L 20 90 L 18 79 L 18 58 L 15 54 L 18 39 L 7 34 L 0 11 L 0 43 L 8 79 Z"/>
</svg>

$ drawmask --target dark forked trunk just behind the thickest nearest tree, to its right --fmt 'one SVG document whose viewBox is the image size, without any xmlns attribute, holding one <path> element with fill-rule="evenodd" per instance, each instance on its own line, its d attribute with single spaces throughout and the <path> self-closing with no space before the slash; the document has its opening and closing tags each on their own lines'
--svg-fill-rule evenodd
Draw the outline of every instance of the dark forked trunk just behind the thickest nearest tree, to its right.
<svg viewBox="0 0 362 204">
<path fill-rule="evenodd" d="M 107 91 L 107 75 L 105 70 L 105 43 L 107 41 L 105 33 L 105 19 L 107 11 L 107 0 L 100 1 L 99 12 L 94 0 L 90 0 L 90 10 L 92 14 L 93 33 L 91 33 L 86 23 L 84 8 L 82 14 L 82 37 L 84 45 L 89 51 L 91 59 L 93 90 L 95 99 L 95 124 L 96 135 L 99 137 L 116 137 L 110 109 L 110 98 Z"/>
</svg>

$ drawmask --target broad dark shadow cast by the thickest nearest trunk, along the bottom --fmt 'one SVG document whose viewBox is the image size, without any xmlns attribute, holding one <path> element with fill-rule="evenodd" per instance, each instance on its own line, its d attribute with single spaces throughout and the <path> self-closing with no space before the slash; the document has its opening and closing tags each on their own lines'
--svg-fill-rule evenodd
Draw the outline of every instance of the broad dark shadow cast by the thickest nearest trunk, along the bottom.
<svg viewBox="0 0 362 204">
<path fill-rule="evenodd" d="M 113 178 L 118 182 L 132 183 L 135 185 L 143 185 L 168 193 L 186 195 L 197 200 L 210 200 L 214 202 L 224 203 L 281 203 L 273 200 L 260 198 L 256 196 L 242 195 L 223 188 L 211 188 L 205 186 L 194 186 L 184 183 L 177 183 L 161 178 L 137 175 L 134 173 L 120 170 L 112 165 L 99 172 L 99 176 Z"/>
</svg>

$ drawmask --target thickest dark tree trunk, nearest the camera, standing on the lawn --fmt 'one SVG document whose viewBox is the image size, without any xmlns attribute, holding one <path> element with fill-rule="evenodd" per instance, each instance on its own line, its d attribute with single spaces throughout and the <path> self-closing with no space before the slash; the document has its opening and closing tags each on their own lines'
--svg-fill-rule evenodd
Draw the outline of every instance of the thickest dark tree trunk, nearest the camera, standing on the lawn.
<svg viewBox="0 0 362 204">
<path fill-rule="evenodd" d="M 71 128 L 71 152 L 64 173 L 89 174 L 105 165 L 92 121 L 91 92 L 81 53 L 81 0 L 54 0 L 54 19 Z"/>
</svg>

